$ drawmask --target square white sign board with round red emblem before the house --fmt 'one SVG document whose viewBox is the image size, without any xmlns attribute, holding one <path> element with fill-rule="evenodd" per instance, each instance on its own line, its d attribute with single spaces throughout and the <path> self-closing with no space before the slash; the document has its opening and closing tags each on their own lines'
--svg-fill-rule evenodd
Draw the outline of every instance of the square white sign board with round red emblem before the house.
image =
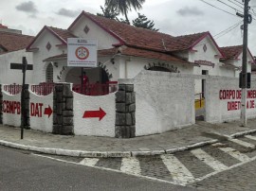
<svg viewBox="0 0 256 191">
<path fill-rule="evenodd" d="M 97 67 L 97 40 L 67 39 L 67 66 Z"/>
</svg>

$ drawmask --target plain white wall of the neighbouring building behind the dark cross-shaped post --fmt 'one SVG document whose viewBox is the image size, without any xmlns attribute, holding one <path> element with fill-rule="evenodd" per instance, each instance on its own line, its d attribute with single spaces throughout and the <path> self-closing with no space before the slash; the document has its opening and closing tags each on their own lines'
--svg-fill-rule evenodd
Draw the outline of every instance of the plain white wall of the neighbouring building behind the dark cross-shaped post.
<svg viewBox="0 0 256 191">
<path fill-rule="evenodd" d="M 30 52 L 26 52 L 25 49 L 14 52 L 9 52 L 0 55 L 0 83 L 1 84 L 22 84 L 23 74 L 22 70 L 11 70 L 10 63 L 22 63 L 22 58 L 27 58 L 28 64 L 33 64 L 33 55 Z M 27 70 L 26 83 L 32 81 L 33 71 Z"/>
</svg>

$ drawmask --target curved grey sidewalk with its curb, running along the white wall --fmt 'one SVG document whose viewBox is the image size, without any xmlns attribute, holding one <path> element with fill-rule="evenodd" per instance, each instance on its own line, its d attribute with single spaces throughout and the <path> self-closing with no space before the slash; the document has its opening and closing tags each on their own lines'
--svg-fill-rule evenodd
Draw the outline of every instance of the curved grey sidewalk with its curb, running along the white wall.
<svg viewBox="0 0 256 191">
<path fill-rule="evenodd" d="M 180 150 L 216 143 L 218 139 L 232 138 L 256 132 L 256 119 L 247 121 L 247 128 L 238 121 L 210 124 L 203 121 L 181 129 L 132 139 L 91 136 L 64 136 L 37 130 L 25 130 L 0 125 L 0 145 L 47 154 L 79 157 L 130 157 L 174 153 Z"/>
</svg>

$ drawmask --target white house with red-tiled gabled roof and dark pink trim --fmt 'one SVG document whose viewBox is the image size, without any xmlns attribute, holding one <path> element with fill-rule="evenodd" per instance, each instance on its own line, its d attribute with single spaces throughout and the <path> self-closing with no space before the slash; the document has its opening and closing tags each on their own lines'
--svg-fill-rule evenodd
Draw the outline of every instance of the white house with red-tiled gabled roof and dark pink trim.
<svg viewBox="0 0 256 191">
<path fill-rule="evenodd" d="M 238 77 L 237 71 L 242 66 L 242 52 L 238 51 L 238 55 L 230 57 L 229 47 L 220 48 L 210 32 L 174 37 L 82 11 L 67 29 L 44 26 L 27 45 L 26 54 L 33 55 L 32 83 L 80 83 L 81 68 L 66 66 L 67 38 L 76 37 L 98 41 L 99 67 L 85 68 L 92 83 L 134 78 L 145 69 Z M 254 61 L 249 53 L 248 71 L 252 63 Z M 195 82 L 195 93 L 202 92 L 204 85 L 202 80 L 198 80 Z"/>
</svg>

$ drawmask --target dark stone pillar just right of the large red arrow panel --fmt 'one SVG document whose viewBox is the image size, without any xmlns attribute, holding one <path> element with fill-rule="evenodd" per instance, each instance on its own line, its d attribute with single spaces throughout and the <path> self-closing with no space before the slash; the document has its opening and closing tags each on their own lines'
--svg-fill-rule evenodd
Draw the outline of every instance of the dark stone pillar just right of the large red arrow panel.
<svg viewBox="0 0 256 191">
<path fill-rule="evenodd" d="M 119 84 L 116 94 L 116 137 L 136 136 L 136 95 L 133 84 Z"/>
</svg>

